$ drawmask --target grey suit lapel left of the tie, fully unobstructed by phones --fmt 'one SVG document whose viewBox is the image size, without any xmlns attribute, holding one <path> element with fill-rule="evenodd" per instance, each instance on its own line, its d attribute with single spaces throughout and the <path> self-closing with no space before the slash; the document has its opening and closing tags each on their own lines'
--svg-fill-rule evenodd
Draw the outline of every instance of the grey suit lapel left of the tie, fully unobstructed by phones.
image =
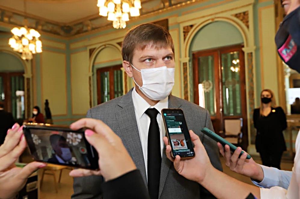
<svg viewBox="0 0 300 199">
<path fill-rule="evenodd" d="M 137 126 L 131 91 L 124 95 L 118 103 L 118 105 L 122 107 L 120 111 L 116 112 L 116 118 L 120 128 L 119 136 L 147 185 L 144 155 L 139 137 L 139 129 Z"/>
</svg>

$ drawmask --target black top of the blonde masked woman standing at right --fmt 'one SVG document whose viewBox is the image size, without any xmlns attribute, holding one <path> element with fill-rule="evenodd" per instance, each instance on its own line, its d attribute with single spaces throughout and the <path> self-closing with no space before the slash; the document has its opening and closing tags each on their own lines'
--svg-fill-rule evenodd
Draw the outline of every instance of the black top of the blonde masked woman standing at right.
<svg viewBox="0 0 300 199">
<path fill-rule="evenodd" d="M 256 133 L 256 150 L 285 151 L 286 144 L 282 131 L 286 129 L 286 115 L 281 107 L 271 108 L 270 114 L 262 116 L 259 108 L 254 109 L 254 127 Z"/>
</svg>

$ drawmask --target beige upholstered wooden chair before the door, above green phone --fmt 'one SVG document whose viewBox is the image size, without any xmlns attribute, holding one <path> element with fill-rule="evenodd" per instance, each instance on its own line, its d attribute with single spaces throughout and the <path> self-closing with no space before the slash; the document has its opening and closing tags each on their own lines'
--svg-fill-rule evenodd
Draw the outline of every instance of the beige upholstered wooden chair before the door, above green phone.
<svg viewBox="0 0 300 199">
<path fill-rule="evenodd" d="M 235 145 L 239 145 L 242 141 L 242 136 L 243 136 L 242 127 L 243 127 L 243 118 L 225 119 L 224 120 L 225 131 L 220 131 L 219 133 L 228 142 Z"/>
</svg>

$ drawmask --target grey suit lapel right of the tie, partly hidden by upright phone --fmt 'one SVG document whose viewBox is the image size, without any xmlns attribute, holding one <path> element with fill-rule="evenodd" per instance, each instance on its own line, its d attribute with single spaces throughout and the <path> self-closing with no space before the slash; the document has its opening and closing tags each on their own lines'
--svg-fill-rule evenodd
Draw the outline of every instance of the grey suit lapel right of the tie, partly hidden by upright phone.
<svg viewBox="0 0 300 199">
<path fill-rule="evenodd" d="M 174 97 L 173 95 L 170 95 L 168 108 L 180 108 L 180 106 L 181 106 L 181 104 L 177 100 L 177 98 Z M 164 146 L 163 156 L 161 159 L 161 177 L 160 177 L 160 181 L 159 181 L 158 198 L 161 197 L 161 193 L 163 192 L 164 184 L 166 182 L 166 178 L 167 178 L 171 163 L 172 162 L 166 156 L 166 146 Z"/>
</svg>

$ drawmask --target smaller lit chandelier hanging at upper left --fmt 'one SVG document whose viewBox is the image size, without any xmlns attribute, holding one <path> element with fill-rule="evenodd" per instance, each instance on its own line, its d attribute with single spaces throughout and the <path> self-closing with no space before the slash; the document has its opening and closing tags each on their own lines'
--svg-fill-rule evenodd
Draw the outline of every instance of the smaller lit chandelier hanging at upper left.
<svg viewBox="0 0 300 199">
<path fill-rule="evenodd" d="M 16 52 L 22 53 L 22 59 L 32 59 L 32 54 L 42 52 L 42 42 L 38 39 L 41 35 L 35 29 L 29 29 L 25 27 L 17 28 L 14 27 L 11 32 L 14 34 L 8 44 Z"/>
</svg>

